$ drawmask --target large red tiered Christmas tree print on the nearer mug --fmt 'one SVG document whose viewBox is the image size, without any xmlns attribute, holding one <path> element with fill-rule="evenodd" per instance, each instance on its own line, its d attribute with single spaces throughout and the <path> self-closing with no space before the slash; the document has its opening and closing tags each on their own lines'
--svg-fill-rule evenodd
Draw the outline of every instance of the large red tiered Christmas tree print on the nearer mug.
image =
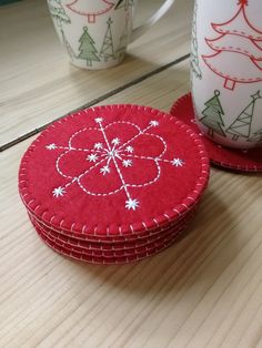
<svg viewBox="0 0 262 348">
<path fill-rule="evenodd" d="M 232 19 L 221 24 L 211 23 L 220 35 L 205 42 L 215 53 L 202 55 L 205 64 L 224 79 L 224 88 L 229 90 L 234 90 L 235 83 L 262 81 L 262 31 L 246 17 L 249 1 L 239 0 L 238 6 L 240 9 Z"/>
</svg>

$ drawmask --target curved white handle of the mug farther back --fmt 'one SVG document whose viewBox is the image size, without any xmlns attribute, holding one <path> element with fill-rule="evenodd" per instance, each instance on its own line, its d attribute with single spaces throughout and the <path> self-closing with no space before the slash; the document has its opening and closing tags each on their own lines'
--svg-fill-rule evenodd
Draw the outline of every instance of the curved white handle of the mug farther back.
<svg viewBox="0 0 262 348">
<path fill-rule="evenodd" d="M 154 23 L 157 23 L 172 7 L 174 0 L 165 0 L 164 3 L 158 9 L 158 11 L 147 20 L 142 25 L 139 25 L 132 30 L 129 43 L 140 38 L 145 31 L 149 30 Z"/>
</svg>

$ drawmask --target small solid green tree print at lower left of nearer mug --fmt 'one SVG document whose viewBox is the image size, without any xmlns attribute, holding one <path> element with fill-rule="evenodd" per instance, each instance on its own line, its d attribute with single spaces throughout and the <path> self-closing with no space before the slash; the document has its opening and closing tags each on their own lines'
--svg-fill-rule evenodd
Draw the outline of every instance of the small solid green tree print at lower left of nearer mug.
<svg viewBox="0 0 262 348">
<path fill-rule="evenodd" d="M 223 109 L 221 106 L 220 91 L 214 91 L 214 96 L 212 96 L 204 105 L 206 106 L 202 114 L 204 115 L 200 121 L 209 129 L 209 135 L 214 136 L 214 133 L 225 136 L 223 126 L 224 122 L 222 116 L 224 115 Z"/>
</svg>

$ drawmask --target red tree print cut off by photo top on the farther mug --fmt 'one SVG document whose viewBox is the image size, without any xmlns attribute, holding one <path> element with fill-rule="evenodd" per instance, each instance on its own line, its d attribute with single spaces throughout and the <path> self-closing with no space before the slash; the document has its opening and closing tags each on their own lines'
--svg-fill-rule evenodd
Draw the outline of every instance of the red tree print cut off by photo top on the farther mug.
<svg viewBox="0 0 262 348">
<path fill-rule="evenodd" d="M 89 23 L 94 23 L 97 16 L 107 13 L 113 6 L 113 0 L 73 0 L 67 4 L 71 11 L 88 17 Z"/>
</svg>

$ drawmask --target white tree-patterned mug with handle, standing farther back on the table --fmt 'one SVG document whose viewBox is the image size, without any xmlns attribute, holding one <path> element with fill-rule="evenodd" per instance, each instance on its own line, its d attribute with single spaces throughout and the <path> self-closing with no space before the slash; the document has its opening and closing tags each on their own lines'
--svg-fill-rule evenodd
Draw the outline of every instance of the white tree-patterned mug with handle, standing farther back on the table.
<svg viewBox="0 0 262 348">
<path fill-rule="evenodd" d="M 143 25 L 133 29 L 137 0 L 48 0 L 57 33 L 73 65 L 108 69 L 119 64 L 127 47 L 173 4 L 165 0 Z"/>
</svg>

